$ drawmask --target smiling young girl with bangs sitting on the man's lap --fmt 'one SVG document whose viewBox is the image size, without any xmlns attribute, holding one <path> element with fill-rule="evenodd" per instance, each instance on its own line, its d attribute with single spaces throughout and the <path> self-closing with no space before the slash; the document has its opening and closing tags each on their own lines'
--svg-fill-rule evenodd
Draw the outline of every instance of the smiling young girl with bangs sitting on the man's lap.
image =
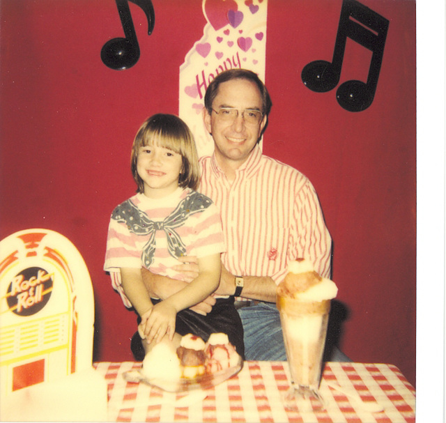
<svg viewBox="0 0 446 423">
<path fill-rule="evenodd" d="M 161 340 L 178 344 L 180 335 L 193 333 L 207 341 L 212 332 L 228 334 L 243 357 L 243 327 L 233 298 L 218 299 L 206 316 L 189 309 L 217 289 L 224 252 L 217 208 L 195 191 L 199 164 L 192 133 L 177 116 L 156 114 L 139 128 L 131 160 L 137 194 L 112 213 L 104 269 L 124 305 L 138 314 L 135 359 L 143 360 Z M 197 256 L 198 277 L 165 300 L 151 298 L 141 267 L 183 280 L 173 269 L 180 256 Z"/>
</svg>

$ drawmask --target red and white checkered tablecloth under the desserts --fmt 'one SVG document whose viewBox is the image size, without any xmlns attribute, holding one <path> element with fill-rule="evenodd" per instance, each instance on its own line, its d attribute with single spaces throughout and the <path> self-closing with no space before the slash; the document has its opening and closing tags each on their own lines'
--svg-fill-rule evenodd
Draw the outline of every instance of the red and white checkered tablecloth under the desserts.
<svg viewBox="0 0 446 423">
<path fill-rule="evenodd" d="M 95 369 L 108 383 L 108 418 L 117 422 L 415 422 L 415 389 L 392 364 L 328 362 L 320 392 L 327 407 L 300 412 L 286 407 L 289 390 L 286 362 L 245 362 L 233 378 L 204 391 L 163 392 L 145 383 L 124 380 L 138 362 L 99 362 Z M 370 413 L 332 390 L 327 383 L 355 389 L 364 401 L 384 410 Z"/>
</svg>

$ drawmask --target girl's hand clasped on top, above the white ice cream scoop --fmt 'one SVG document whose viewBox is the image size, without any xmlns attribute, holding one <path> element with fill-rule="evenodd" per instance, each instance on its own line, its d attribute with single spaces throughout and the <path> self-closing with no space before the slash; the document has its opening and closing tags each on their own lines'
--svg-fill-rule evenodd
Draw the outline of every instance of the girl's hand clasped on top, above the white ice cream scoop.
<svg viewBox="0 0 446 423">
<path fill-rule="evenodd" d="M 147 313 L 144 314 L 146 317 L 144 334 L 149 344 L 152 341 L 160 342 L 165 334 L 168 334 L 170 340 L 174 339 L 176 313 L 176 308 L 168 301 L 161 301 L 153 306 L 148 316 Z M 141 316 L 141 325 L 144 317 Z"/>
</svg>

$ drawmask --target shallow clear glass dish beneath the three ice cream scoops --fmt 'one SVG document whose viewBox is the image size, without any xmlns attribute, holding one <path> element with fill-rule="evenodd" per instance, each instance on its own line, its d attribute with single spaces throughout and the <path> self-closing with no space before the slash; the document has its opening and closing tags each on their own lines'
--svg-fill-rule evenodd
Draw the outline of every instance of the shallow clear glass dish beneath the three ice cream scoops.
<svg viewBox="0 0 446 423">
<path fill-rule="evenodd" d="M 203 374 L 197 376 L 193 379 L 180 378 L 179 380 L 163 379 L 163 378 L 151 378 L 150 376 L 144 375 L 142 369 L 140 370 L 129 370 L 123 373 L 123 378 L 128 382 L 143 382 L 148 385 L 160 387 L 162 390 L 167 392 L 187 392 L 191 390 L 206 390 L 210 387 L 218 385 L 231 378 L 232 376 L 238 374 L 238 372 L 243 367 L 242 357 L 238 357 L 238 363 L 236 366 L 229 367 L 227 369 L 222 369 L 216 371 L 215 373 Z"/>
</svg>

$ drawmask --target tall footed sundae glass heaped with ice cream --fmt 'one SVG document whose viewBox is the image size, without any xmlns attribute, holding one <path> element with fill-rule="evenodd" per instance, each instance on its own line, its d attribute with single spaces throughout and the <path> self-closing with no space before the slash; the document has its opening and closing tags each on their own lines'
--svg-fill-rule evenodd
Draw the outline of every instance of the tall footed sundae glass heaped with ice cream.
<svg viewBox="0 0 446 423">
<path fill-rule="evenodd" d="M 330 300 L 336 295 L 334 282 L 318 275 L 307 260 L 291 263 L 284 282 L 277 286 L 277 309 L 291 374 L 288 406 L 325 408 L 318 388 Z"/>
</svg>

